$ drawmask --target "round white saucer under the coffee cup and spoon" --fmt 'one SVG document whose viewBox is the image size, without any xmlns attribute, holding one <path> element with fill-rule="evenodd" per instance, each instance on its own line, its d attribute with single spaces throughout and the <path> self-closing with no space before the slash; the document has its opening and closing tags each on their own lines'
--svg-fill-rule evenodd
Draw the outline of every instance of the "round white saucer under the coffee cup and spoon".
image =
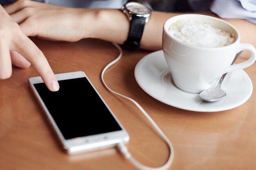
<svg viewBox="0 0 256 170">
<path fill-rule="evenodd" d="M 218 112 L 235 108 L 252 95 L 252 81 L 245 71 L 240 70 L 227 74 L 222 84 L 222 90 L 227 93 L 226 97 L 217 102 L 203 102 L 199 94 L 184 92 L 173 84 L 163 51 L 143 57 L 135 67 L 135 78 L 148 95 L 160 102 L 198 112 Z"/>
</svg>

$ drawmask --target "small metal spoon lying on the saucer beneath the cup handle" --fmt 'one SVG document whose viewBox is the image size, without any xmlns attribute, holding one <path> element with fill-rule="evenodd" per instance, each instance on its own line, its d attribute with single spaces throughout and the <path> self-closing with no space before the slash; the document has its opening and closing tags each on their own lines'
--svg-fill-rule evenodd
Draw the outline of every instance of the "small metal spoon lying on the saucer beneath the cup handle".
<svg viewBox="0 0 256 170">
<path fill-rule="evenodd" d="M 234 64 L 236 62 L 236 59 L 238 59 L 238 57 L 240 56 L 241 53 L 242 53 L 242 51 L 240 51 L 239 53 L 236 54 L 236 57 L 234 58 L 232 64 Z M 220 87 L 221 87 L 223 79 L 225 78 L 226 75 L 227 75 L 227 73 L 225 73 L 221 76 L 220 81 L 218 82 L 218 85 L 215 88 L 210 88 L 208 90 L 202 91 L 199 94 L 199 97 L 205 102 L 215 102 L 215 101 L 225 97 L 227 94 L 225 91 L 222 91 L 222 89 Z"/>
</svg>

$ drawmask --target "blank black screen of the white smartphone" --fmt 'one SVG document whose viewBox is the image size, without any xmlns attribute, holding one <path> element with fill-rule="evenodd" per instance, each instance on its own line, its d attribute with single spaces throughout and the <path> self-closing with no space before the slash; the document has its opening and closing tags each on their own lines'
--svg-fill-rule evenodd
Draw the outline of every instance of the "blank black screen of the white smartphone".
<svg viewBox="0 0 256 170">
<path fill-rule="evenodd" d="M 65 139 L 121 130 L 87 78 L 58 81 L 60 89 L 49 91 L 34 84 Z"/>
</svg>

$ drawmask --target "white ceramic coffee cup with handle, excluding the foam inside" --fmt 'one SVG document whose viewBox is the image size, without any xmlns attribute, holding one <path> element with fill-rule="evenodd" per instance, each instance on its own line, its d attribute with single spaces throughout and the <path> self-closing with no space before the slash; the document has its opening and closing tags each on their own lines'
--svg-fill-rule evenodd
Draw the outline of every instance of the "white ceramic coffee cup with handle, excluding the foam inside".
<svg viewBox="0 0 256 170">
<path fill-rule="evenodd" d="M 218 29 L 234 33 L 236 40 L 222 47 L 185 44 L 168 33 L 169 26 L 181 19 L 200 20 Z M 184 14 L 169 18 L 164 23 L 162 47 L 174 84 L 181 90 L 191 93 L 200 93 L 211 88 L 222 74 L 246 68 L 256 60 L 254 46 L 240 43 L 240 33 L 234 26 L 207 15 Z M 236 53 L 242 50 L 251 51 L 251 57 L 244 62 L 231 65 Z"/>
</svg>

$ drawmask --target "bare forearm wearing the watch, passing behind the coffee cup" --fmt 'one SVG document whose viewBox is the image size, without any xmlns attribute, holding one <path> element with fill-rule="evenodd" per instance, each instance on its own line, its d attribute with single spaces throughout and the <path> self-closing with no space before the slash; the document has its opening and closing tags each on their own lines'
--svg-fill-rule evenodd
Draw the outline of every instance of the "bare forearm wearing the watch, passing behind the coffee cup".
<svg viewBox="0 0 256 170">
<path fill-rule="evenodd" d="M 173 16 L 182 13 L 164 13 L 153 11 L 148 23 L 145 25 L 141 38 L 141 48 L 147 50 L 162 49 L 162 31 L 164 22 Z M 217 17 L 214 13 L 199 13 Z M 235 26 L 241 34 L 241 42 L 247 42 L 256 47 L 256 24 L 242 19 L 223 19 Z M 129 21 L 126 15 L 118 9 L 101 9 L 97 12 L 96 26 L 92 38 L 124 44 L 128 36 Z M 85 37 L 84 37 L 85 38 Z"/>
</svg>

